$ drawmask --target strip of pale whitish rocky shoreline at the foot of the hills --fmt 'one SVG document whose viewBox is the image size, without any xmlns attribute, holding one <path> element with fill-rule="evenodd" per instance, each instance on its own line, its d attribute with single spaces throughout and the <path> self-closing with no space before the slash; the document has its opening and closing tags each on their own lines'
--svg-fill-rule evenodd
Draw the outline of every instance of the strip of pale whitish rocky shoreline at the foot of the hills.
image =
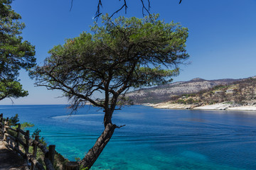
<svg viewBox="0 0 256 170">
<path fill-rule="evenodd" d="M 151 104 L 145 103 L 144 106 L 151 106 L 153 108 L 166 108 L 166 109 L 191 109 L 191 110 L 222 110 L 222 111 L 256 111 L 256 105 L 233 105 L 230 103 L 215 103 L 212 105 L 196 106 L 189 104 L 178 104 L 178 103 L 158 103 Z"/>
</svg>

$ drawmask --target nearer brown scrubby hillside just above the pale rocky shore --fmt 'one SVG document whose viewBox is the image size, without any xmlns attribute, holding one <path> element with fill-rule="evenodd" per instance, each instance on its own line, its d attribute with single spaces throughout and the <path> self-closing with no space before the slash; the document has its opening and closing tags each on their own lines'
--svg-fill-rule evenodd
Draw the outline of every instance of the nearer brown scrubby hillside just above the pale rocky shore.
<svg viewBox="0 0 256 170">
<path fill-rule="evenodd" d="M 256 77 L 240 79 L 231 84 L 213 86 L 210 89 L 198 91 L 196 94 L 182 94 L 168 101 L 168 103 L 186 104 L 196 107 L 223 102 L 239 106 L 255 105 Z"/>
</svg>

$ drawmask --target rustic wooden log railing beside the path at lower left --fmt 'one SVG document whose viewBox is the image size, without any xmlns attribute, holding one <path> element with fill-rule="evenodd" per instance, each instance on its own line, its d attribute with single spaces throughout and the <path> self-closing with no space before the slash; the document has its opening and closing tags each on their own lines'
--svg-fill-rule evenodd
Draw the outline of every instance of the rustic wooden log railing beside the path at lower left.
<svg viewBox="0 0 256 170">
<path fill-rule="evenodd" d="M 9 126 L 9 118 L 4 120 L 3 113 L 0 114 L 0 130 L 4 134 L 4 144 L 7 147 L 11 147 L 11 149 L 15 150 L 20 154 L 26 162 L 30 162 L 31 166 L 30 169 L 38 169 L 38 170 L 45 170 L 42 164 L 38 162 L 36 159 L 37 149 L 40 148 L 44 154 L 43 161 L 46 164 L 47 170 L 54 170 L 53 162 L 54 162 L 54 155 L 55 155 L 55 145 L 49 145 L 49 149 L 41 142 L 39 142 L 39 136 L 35 137 L 35 140 L 32 140 L 29 135 L 29 130 L 24 132 L 21 130 L 21 124 L 18 124 L 18 128 L 14 129 Z M 10 135 L 9 131 L 16 132 L 16 137 Z M 22 145 L 23 147 L 21 147 Z M 33 153 L 29 153 L 29 147 L 33 146 Z M 26 166 L 26 170 L 28 170 L 28 166 Z"/>
</svg>

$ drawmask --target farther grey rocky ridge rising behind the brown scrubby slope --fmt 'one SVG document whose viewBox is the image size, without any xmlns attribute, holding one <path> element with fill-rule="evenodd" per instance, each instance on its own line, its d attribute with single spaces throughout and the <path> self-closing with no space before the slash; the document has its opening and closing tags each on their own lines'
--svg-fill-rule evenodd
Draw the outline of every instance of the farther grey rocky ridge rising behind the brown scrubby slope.
<svg viewBox="0 0 256 170">
<path fill-rule="evenodd" d="M 242 79 L 191 79 L 190 81 L 178 81 L 171 84 L 155 86 L 148 89 L 140 89 L 127 94 L 134 104 L 162 103 L 173 100 L 175 96 L 182 94 L 196 94 L 199 91 L 213 88 L 218 85 L 230 85 Z"/>
</svg>

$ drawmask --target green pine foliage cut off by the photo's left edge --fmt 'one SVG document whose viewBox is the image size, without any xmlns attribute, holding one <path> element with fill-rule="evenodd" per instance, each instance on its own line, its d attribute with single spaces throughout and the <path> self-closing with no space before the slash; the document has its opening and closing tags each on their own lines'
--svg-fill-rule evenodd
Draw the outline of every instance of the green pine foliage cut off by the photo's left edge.
<svg viewBox="0 0 256 170">
<path fill-rule="evenodd" d="M 35 66 L 35 47 L 22 42 L 21 16 L 11 9 L 11 0 L 0 2 L 0 100 L 28 96 L 18 82 L 18 70 Z"/>
</svg>

